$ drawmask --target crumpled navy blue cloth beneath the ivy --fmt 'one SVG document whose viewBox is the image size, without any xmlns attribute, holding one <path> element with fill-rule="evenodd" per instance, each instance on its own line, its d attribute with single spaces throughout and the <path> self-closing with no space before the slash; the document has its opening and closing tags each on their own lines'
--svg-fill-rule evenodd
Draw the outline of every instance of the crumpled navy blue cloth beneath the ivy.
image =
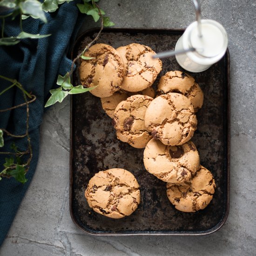
<svg viewBox="0 0 256 256">
<path fill-rule="evenodd" d="M 39 127 L 42 122 L 44 105 L 49 98 L 49 90 L 56 87 L 58 74 L 70 70 L 71 61 L 67 52 L 82 23 L 82 15 L 76 7 L 77 1 L 64 3 L 54 13 L 46 13 L 47 23 L 31 17 L 23 21 L 23 30 L 30 34 L 52 34 L 42 39 L 24 39 L 14 46 L 0 46 L 0 74 L 16 79 L 37 99 L 29 105 L 29 134 L 32 142 L 33 158 L 26 174 L 24 185 L 14 178 L 0 181 L 0 245 L 19 208 L 20 202 L 33 178 L 39 155 Z M 81 15 L 81 16 L 80 16 Z M 16 22 L 6 22 L 5 36 L 20 33 L 19 18 Z M 0 79 L 0 91 L 11 83 Z M 13 87 L 0 96 L 0 109 L 10 108 L 24 102 L 23 94 Z M 6 128 L 15 135 L 26 132 L 26 106 L 0 113 L 0 128 Z M 10 151 L 13 138 L 5 135 L 5 146 L 0 151 Z M 27 149 L 27 138 L 16 139 L 15 144 L 22 151 Z M 6 155 L 0 155 L 0 170 Z M 44 181 L 42 181 L 44 182 Z M 47 177 L 46 177 L 47 182 Z M 29 216 L 28 216 L 29 218 Z"/>
</svg>

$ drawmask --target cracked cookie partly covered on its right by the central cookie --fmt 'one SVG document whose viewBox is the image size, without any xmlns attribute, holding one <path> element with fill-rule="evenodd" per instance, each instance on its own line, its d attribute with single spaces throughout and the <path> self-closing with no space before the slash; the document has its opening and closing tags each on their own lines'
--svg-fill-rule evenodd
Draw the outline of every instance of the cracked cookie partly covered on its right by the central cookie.
<svg viewBox="0 0 256 256">
<path fill-rule="evenodd" d="M 145 112 L 152 100 L 146 95 L 133 95 L 117 105 L 112 124 L 120 141 L 134 148 L 145 148 L 152 138 L 145 126 Z"/>
</svg>

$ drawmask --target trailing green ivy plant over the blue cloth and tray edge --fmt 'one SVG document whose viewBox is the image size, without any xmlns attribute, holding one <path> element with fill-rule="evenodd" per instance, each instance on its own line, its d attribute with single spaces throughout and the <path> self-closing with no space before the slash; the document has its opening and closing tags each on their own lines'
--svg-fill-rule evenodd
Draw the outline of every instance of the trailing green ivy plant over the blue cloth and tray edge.
<svg viewBox="0 0 256 256">
<path fill-rule="evenodd" d="M 47 23 L 47 17 L 45 13 L 53 13 L 55 12 L 61 4 L 64 2 L 71 2 L 73 0 L 44 0 L 42 3 L 38 0 L 0 0 L 0 8 L 4 9 L 4 12 L 0 13 L 0 46 L 1 45 L 15 45 L 18 44 L 21 40 L 30 38 L 30 39 L 40 39 L 50 34 L 29 34 L 23 31 L 22 28 L 22 21 L 26 19 L 40 19 L 42 22 Z M 51 106 L 56 102 L 62 102 L 68 94 L 81 94 L 84 92 L 88 92 L 93 88 L 84 88 L 82 85 L 73 86 L 71 83 L 70 76 L 73 73 L 73 67 L 75 61 L 79 58 L 84 60 L 90 60 L 91 57 L 84 56 L 84 53 L 91 44 L 99 38 L 101 31 L 104 27 L 114 26 L 115 24 L 110 21 L 109 17 L 103 16 L 105 12 L 99 8 L 97 2 L 99 0 L 83 0 L 81 3 L 77 4 L 78 9 L 81 13 L 85 13 L 87 15 L 91 15 L 94 21 L 98 21 L 101 19 L 101 29 L 97 36 L 94 38 L 92 42 L 90 42 L 87 47 L 74 59 L 72 63 L 71 70 L 67 72 L 64 76 L 58 75 L 57 85 L 59 86 L 57 89 L 50 90 L 50 98 L 48 99 L 45 107 Z M 3 8 L 4 7 L 4 8 Z M 4 33 L 5 24 L 6 22 L 12 22 L 17 17 L 20 18 L 20 33 L 16 35 L 12 35 L 10 37 L 6 37 Z M 7 108 L 2 111 L 9 111 L 13 108 L 19 108 L 21 106 L 27 106 L 27 125 L 26 125 L 26 133 L 24 135 L 12 135 L 4 128 L 0 128 L 0 147 L 4 146 L 4 133 L 13 137 L 13 138 L 22 138 L 27 137 L 28 148 L 26 151 L 21 152 L 18 150 L 16 145 L 12 143 L 10 152 L 0 152 L 0 154 L 11 155 L 5 158 L 5 163 L 3 164 L 3 169 L 0 171 L 0 180 L 2 177 L 13 177 L 18 182 L 25 183 L 27 182 L 26 173 L 30 166 L 30 161 L 32 159 L 32 147 L 31 141 L 28 132 L 28 125 L 29 125 L 29 104 L 36 100 L 35 95 L 29 94 L 22 85 L 11 78 L 4 77 L 0 75 L 1 79 L 5 79 L 7 81 L 12 82 L 12 84 L 5 88 L 3 91 L 0 92 L 4 94 L 10 88 L 16 86 L 19 88 L 24 96 L 25 103 L 20 104 L 18 106 L 14 106 L 12 108 Z M 25 156 L 29 154 L 29 157 L 25 158 Z M 23 158 L 27 159 L 26 161 Z"/>
</svg>

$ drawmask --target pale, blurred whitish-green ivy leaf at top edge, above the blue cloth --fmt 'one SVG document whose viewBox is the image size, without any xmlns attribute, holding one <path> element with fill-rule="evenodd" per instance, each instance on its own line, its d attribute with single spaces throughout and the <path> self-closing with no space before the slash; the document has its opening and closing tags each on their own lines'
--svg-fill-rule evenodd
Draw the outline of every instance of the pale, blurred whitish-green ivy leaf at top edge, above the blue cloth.
<svg viewBox="0 0 256 256">
<path fill-rule="evenodd" d="M 47 23 L 45 13 L 42 10 L 41 3 L 37 0 L 25 0 L 19 3 L 20 9 L 23 14 L 33 15 L 35 18 L 39 18 L 43 22 Z"/>
</svg>

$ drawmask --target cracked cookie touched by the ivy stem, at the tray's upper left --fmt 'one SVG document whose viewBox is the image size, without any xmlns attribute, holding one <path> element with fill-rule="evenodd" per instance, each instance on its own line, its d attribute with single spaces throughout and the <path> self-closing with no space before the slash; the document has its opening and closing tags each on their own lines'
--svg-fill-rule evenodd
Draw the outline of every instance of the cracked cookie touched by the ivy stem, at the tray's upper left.
<svg viewBox="0 0 256 256">
<path fill-rule="evenodd" d="M 124 65 L 120 54 L 106 44 L 95 44 L 84 53 L 93 57 L 81 60 L 79 74 L 81 84 L 95 87 L 90 93 L 97 97 L 108 97 L 120 89 L 124 76 Z"/>
</svg>

